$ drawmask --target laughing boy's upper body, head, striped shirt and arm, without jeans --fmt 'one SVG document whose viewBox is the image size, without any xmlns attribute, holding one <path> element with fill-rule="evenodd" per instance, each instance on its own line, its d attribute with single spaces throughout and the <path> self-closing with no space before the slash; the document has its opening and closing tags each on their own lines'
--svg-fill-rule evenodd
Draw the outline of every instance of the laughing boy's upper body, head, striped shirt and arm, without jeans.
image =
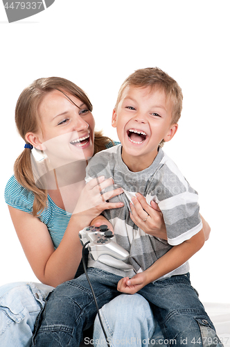
<svg viewBox="0 0 230 347">
<path fill-rule="evenodd" d="M 89 266 L 126 275 L 118 283 L 124 293 L 134 294 L 159 278 L 187 273 L 187 260 L 204 244 L 197 193 L 161 149 L 177 132 L 182 99 L 179 85 L 160 69 L 134 72 L 121 86 L 112 115 L 121 145 L 98 153 L 87 167 L 87 181 L 95 176 L 112 177 L 124 190 L 114 200 L 121 199 L 125 207 L 105 210 L 103 215 L 130 258 L 122 264 L 104 255 L 98 262 L 89 262 Z M 145 234 L 134 224 L 127 208 L 135 193 L 143 194 L 147 203 L 159 204 L 168 242 Z M 147 219 L 143 211 L 143 221 Z"/>
</svg>

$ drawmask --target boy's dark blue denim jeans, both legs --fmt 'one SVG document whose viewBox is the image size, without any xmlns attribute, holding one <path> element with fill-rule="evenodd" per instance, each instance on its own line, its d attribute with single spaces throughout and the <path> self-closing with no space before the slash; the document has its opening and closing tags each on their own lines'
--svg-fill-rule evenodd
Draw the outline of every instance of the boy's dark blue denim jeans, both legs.
<svg viewBox="0 0 230 347">
<path fill-rule="evenodd" d="M 99 308 L 120 294 L 116 290 L 120 276 L 94 268 L 89 268 L 87 272 Z M 191 287 L 189 274 L 150 283 L 139 294 L 150 302 L 168 345 L 221 345 L 213 323 Z M 95 317 L 96 305 L 85 274 L 65 282 L 48 296 L 37 320 L 33 346 L 78 347 L 82 331 L 94 323 Z M 130 324 L 132 316 L 125 321 L 126 327 Z"/>
</svg>

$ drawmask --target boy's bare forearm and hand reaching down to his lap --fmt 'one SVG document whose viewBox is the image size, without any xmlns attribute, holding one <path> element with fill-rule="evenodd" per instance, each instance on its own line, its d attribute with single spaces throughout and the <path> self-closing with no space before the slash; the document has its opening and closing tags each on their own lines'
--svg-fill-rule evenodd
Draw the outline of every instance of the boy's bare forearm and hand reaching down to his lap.
<svg viewBox="0 0 230 347">
<path fill-rule="evenodd" d="M 141 288 L 148 285 L 148 283 L 157 280 L 166 273 L 177 269 L 177 267 L 184 264 L 191 258 L 197 251 L 204 245 L 204 232 L 203 229 L 197 232 L 196 235 L 191 237 L 182 244 L 173 246 L 170 251 L 160 257 L 152 266 L 147 270 L 137 273 L 133 278 L 122 278 L 118 282 L 117 289 L 126 294 L 134 294 Z"/>
</svg>

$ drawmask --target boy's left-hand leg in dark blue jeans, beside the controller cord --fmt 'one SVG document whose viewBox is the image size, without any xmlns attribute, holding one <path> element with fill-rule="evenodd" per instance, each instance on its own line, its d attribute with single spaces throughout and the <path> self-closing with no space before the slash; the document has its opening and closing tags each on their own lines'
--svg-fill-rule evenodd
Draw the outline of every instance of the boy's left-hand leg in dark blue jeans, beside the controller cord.
<svg viewBox="0 0 230 347">
<path fill-rule="evenodd" d="M 116 285 L 120 276 L 94 268 L 87 273 L 99 308 L 119 295 Z M 85 274 L 64 282 L 48 296 L 37 320 L 33 346 L 78 347 L 83 330 L 94 323 L 95 317 L 96 305 Z"/>
</svg>

